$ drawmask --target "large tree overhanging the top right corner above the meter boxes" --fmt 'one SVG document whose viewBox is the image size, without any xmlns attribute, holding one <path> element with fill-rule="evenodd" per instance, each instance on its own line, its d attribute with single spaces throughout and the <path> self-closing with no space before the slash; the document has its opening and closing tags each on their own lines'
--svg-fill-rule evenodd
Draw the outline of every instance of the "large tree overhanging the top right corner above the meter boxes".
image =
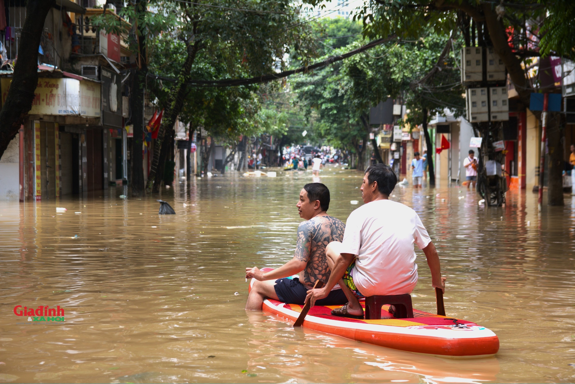
<svg viewBox="0 0 575 384">
<path fill-rule="evenodd" d="M 319 0 L 306 0 L 306 3 L 316 5 Z M 548 11 L 550 20 L 545 27 L 544 19 Z M 363 33 L 373 39 L 395 34 L 403 39 L 415 40 L 428 30 L 447 37 L 454 29 L 460 29 L 467 43 L 493 47 L 505 64 L 520 103 L 527 107 L 534 89 L 522 63 L 528 57 L 539 55 L 536 44 L 534 46 L 526 38 L 528 33 L 538 36 L 540 25 L 532 21 L 543 21 L 543 30 L 549 33 L 544 40 L 544 52 L 569 52 L 572 55 L 572 14 L 573 4 L 566 0 L 542 0 L 540 3 L 512 1 L 499 5 L 477 0 L 370 0 L 354 17 L 363 20 Z M 475 36 L 477 42 L 474 41 Z M 510 44 L 515 38 L 522 41 L 521 47 Z M 560 145 L 562 130 L 560 125 L 555 125 L 559 124 L 558 119 L 550 119 L 549 124 L 550 161 L 557 164 L 563 156 Z M 560 178 L 561 174 L 555 171 L 550 176 Z M 550 182 L 548 198 L 549 205 L 563 204 L 561 183 Z"/>
</svg>

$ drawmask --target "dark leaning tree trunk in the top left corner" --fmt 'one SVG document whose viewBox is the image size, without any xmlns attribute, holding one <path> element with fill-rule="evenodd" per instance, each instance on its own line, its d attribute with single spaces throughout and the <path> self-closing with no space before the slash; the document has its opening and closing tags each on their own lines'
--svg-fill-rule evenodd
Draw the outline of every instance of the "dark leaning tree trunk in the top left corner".
<svg viewBox="0 0 575 384">
<path fill-rule="evenodd" d="M 0 158 L 20 130 L 24 117 L 32 109 L 38 84 L 38 47 L 44 20 L 56 0 L 28 0 L 26 20 L 18 45 L 17 63 L 10 90 L 0 112 Z M 4 11 L 1 9 L 0 11 Z"/>
</svg>

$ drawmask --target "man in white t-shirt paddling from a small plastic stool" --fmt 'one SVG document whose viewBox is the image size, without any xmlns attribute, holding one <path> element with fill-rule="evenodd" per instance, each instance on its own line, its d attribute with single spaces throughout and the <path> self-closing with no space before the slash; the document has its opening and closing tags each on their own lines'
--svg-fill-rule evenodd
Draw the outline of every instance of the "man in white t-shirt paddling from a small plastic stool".
<svg viewBox="0 0 575 384">
<path fill-rule="evenodd" d="M 346 222 L 343 242 L 325 248 L 331 276 L 321 289 L 308 291 L 306 301 L 315 304 L 339 283 L 348 303 L 332 310 L 335 316 L 363 317 L 358 299 L 374 295 L 409 294 L 417 283 L 413 244 L 423 250 L 431 270 L 431 285 L 445 289 L 439 256 L 417 213 L 389 200 L 397 176 L 389 166 L 367 168 L 361 186 L 365 205 Z"/>
</svg>

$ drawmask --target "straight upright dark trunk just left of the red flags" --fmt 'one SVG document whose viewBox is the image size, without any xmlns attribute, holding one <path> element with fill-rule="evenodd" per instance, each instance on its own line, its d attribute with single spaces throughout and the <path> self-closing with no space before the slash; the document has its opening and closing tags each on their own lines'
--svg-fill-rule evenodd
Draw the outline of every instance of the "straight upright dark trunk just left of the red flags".
<svg viewBox="0 0 575 384">
<path fill-rule="evenodd" d="M 147 10 L 147 0 L 136 1 L 136 14 L 145 13 Z M 144 93 L 146 77 L 148 75 L 148 63 L 146 54 L 146 34 L 143 29 L 134 23 L 136 36 L 138 38 L 139 54 L 136 59 L 136 69 L 132 71 L 132 90 L 130 97 L 130 106 L 132 109 L 133 139 L 132 149 L 130 151 L 130 161 L 132 163 L 132 197 L 142 197 L 145 195 L 144 190 L 144 156 L 143 136 L 144 136 Z"/>
</svg>

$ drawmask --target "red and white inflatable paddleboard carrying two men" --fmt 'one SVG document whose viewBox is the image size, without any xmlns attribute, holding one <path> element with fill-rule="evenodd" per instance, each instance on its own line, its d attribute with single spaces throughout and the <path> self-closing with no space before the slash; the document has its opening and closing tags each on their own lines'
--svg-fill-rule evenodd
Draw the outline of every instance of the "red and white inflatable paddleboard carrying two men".
<svg viewBox="0 0 575 384">
<path fill-rule="evenodd" d="M 271 270 L 273 268 L 262 268 L 266 272 Z M 360 300 L 360 303 L 365 309 L 364 301 Z M 300 316 L 302 307 L 274 299 L 263 301 L 264 312 L 292 322 Z M 314 306 L 305 318 L 304 327 L 382 347 L 444 358 L 486 358 L 499 351 L 497 335 L 471 321 L 415 308 L 413 318 L 395 318 L 388 311 L 389 305 L 382 307 L 381 320 L 332 316 L 331 310 L 339 307 Z"/>
</svg>

